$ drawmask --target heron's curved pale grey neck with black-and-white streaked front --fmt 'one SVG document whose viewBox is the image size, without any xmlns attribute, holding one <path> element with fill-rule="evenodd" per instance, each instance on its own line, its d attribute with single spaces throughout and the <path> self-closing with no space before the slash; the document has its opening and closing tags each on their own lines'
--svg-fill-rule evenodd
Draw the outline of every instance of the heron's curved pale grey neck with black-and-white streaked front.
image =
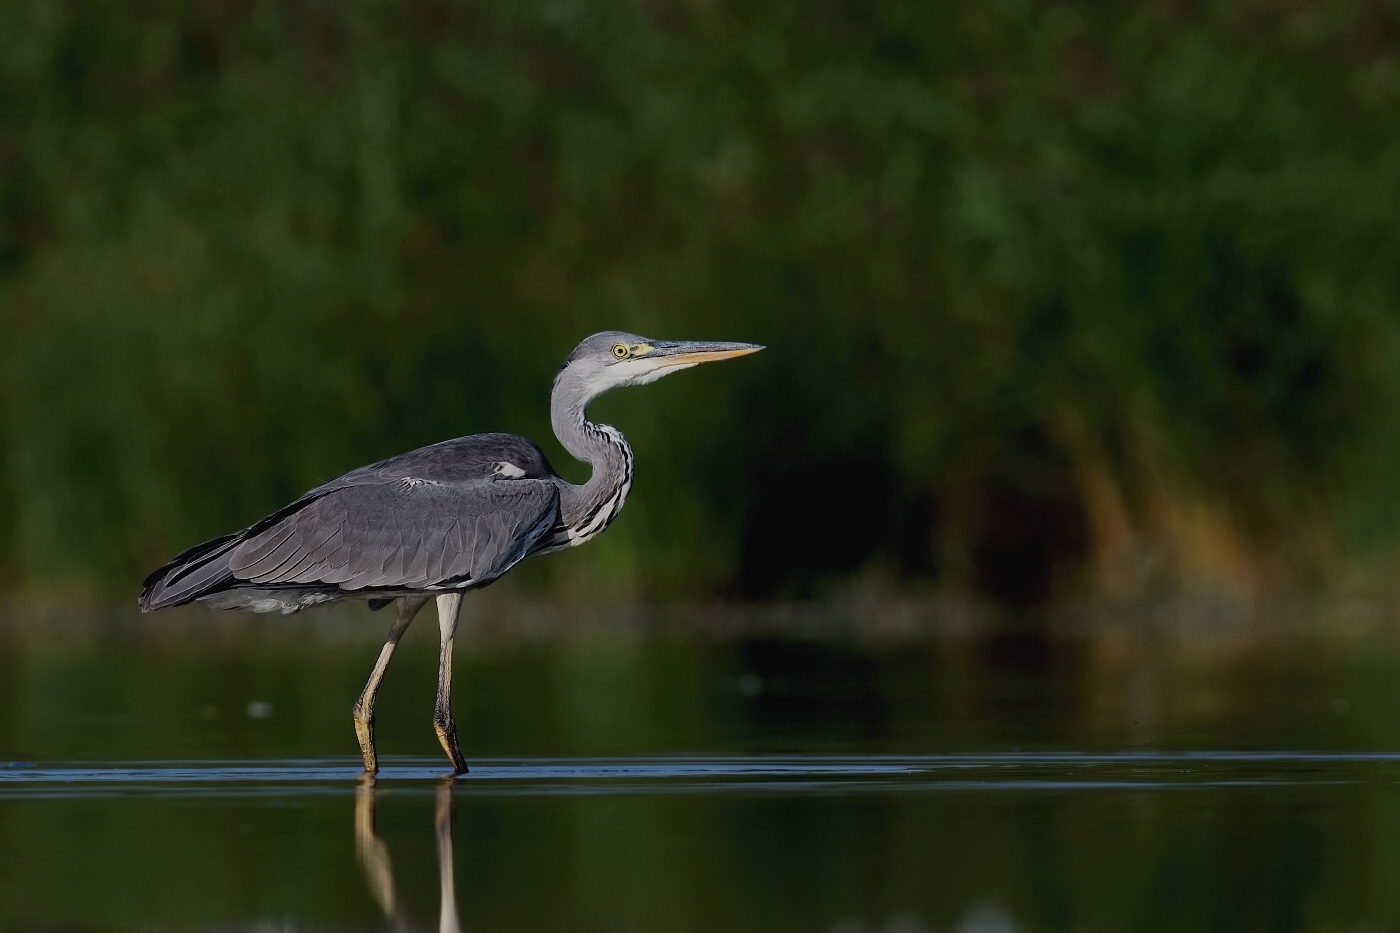
<svg viewBox="0 0 1400 933">
<path fill-rule="evenodd" d="M 570 531 L 570 544 L 582 544 L 606 528 L 631 489 L 631 447 L 617 429 L 588 420 L 588 403 L 595 396 L 570 378 L 568 370 L 554 380 L 550 394 L 554 437 L 573 457 L 594 468 L 587 483 L 564 483 L 560 490 L 560 518 Z"/>
</svg>

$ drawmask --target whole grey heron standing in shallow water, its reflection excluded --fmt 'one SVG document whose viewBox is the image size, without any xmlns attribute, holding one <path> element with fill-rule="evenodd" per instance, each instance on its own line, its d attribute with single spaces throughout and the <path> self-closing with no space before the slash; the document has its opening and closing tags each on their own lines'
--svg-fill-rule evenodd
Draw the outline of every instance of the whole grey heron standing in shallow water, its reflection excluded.
<svg viewBox="0 0 1400 933">
<path fill-rule="evenodd" d="M 242 531 L 182 551 L 146 579 L 140 607 L 200 602 L 291 614 L 340 600 L 368 600 L 372 609 L 392 604 L 389 636 L 354 703 L 360 754 L 372 775 L 379 681 L 413 616 L 435 600 L 441 644 L 433 727 L 452 769 L 463 773 L 452 723 L 452 636 L 462 594 L 531 555 L 591 541 L 631 489 L 631 447 L 615 427 L 589 422 L 588 403 L 613 388 L 762 349 L 595 333 L 568 354 L 550 392 L 554 436 L 592 466 L 584 485 L 560 478 L 524 437 L 442 441 L 354 469 Z"/>
</svg>

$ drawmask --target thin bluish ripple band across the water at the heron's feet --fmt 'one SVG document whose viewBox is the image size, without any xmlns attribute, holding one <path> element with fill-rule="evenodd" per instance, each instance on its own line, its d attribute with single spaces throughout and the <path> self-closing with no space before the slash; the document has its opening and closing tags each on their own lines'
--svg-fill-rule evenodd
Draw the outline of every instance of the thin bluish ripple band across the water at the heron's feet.
<svg viewBox="0 0 1400 933">
<path fill-rule="evenodd" d="M 357 759 L 0 762 L 0 800 L 43 797 L 304 797 L 351 793 Z M 392 758 L 378 780 L 431 793 L 437 758 Z M 479 759 L 461 794 L 875 794 L 1189 790 L 1396 783 L 1400 754 L 1134 751 L 963 755 L 675 755 Z"/>
</svg>

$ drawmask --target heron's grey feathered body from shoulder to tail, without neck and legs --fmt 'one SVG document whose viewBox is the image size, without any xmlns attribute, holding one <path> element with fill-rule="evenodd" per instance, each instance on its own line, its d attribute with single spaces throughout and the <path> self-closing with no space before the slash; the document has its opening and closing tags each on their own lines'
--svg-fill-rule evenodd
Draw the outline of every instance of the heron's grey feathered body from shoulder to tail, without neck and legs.
<svg viewBox="0 0 1400 933">
<path fill-rule="evenodd" d="M 514 434 L 421 447 L 316 486 L 244 531 L 182 551 L 143 581 L 139 602 L 144 611 L 160 609 L 255 581 L 346 590 L 370 580 L 480 586 L 529 553 L 557 518 L 557 478 L 543 451 Z M 455 492 L 434 492 L 444 488 Z M 477 521 L 503 506 L 518 511 L 497 516 L 496 524 Z"/>
</svg>

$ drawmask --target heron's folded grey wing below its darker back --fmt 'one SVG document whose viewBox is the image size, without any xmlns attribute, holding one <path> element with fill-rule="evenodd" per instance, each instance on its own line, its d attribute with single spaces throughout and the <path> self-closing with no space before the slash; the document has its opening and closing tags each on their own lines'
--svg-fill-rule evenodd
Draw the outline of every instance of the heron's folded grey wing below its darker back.
<svg viewBox="0 0 1400 933">
<path fill-rule="evenodd" d="M 259 528 L 230 555 L 239 583 L 343 590 L 484 586 L 559 517 L 542 479 L 347 485 Z"/>
</svg>

